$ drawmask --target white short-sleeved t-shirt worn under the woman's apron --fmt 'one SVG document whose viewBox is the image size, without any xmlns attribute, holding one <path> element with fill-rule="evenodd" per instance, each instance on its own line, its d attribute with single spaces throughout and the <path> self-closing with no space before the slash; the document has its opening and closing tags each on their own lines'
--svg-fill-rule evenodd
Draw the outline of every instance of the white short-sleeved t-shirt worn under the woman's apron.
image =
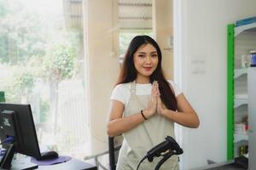
<svg viewBox="0 0 256 170">
<path fill-rule="evenodd" d="M 168 80 L 168 82 L 171 84 L 176 97 L 178 94 L 182 93 L 182 91 L 179 88 L 177 88 L 177 84 L 175 82 L 172 82 L 171 80 Z M 151 88 L 152 88 L 151 83 L 147 83 L 147 84 L 136 83 L 136 95 L 151 94 Z M 110 99 L 119 100 L 126 106 L 131 96 L 130 90 L 131 90 L 131 83 L 128 82 L 128 83 L 119 84 L 115 88 L 113 88 L 113 92 L 110 96 Z"/>
</svg>

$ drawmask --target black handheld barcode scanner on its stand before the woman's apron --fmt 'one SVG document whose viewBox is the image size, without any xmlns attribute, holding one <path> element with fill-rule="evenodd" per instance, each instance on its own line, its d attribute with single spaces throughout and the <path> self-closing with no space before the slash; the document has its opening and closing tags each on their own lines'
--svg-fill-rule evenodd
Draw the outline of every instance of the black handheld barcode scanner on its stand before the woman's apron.
<svg viewBox="0 0 256 170">
<path fill-rule="evenodd" d="M 163 156 L 163 158 L 158 162 L 158 164 L 154 167 L 154 170 L 160 169 L 161 165 L 169 159 L 173 155 L 181 155 L 183 154 L 183 149 L 177 144 L 176 140 L 171 136 L 166 136 L 166 140 L 157 144 L 151 150 L 148 150 L 147 155 L 143 157 L 142 161 L 137 166 L 140 166 L 141 162 L 148 158 L 148 161 L 153 161 L 154 157 Z"/>
</svg>

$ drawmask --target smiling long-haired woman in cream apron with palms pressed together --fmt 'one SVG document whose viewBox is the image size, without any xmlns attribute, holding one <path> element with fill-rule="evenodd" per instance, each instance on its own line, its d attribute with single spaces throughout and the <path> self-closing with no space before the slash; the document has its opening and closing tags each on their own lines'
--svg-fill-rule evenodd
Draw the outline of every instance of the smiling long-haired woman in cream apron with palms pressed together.
<svg viewBox="0 0 256 170">
<path fill-rule="evenodd" d="M 119 80 L 111 95 L 108 135 L 124 137 L 119 151 L 118 170 L 136 169 L 147 151 L 174 138 L 174 122 L 198 127 L 199 118 L 172 81 L 166 81 L 161 68 L 158 44 L 148 36 L 131 40 Z M 154 169 L 161 157 L 143 161 L 139 169 Z M 178 169 L 172 156 L 161 169 Z"/>
</svg>

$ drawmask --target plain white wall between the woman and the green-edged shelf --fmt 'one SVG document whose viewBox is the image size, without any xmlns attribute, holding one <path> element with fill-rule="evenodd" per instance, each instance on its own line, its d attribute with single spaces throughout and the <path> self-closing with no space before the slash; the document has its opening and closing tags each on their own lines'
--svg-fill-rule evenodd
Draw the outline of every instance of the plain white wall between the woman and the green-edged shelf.
<svg viewBox="0 0 256 170">
<path fill-rule="evenodd" d="M 226 26 L 256 15 L 255 0 L 174 0 L 175 81 L 201 119 L 183 128 L 183 169 L 226 161 Z"/>
</svg>

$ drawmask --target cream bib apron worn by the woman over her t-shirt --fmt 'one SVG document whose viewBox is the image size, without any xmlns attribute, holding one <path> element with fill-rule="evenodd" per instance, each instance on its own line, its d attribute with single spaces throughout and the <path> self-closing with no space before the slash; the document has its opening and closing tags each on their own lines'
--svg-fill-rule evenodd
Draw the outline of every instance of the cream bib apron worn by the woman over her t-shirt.
<svg viewBox="0 0 256 170">
<path fill-rule="evenodd" d="M 149 99 L 150 95 L 136 95 L 136 83 L 131 82 L 131 98 L 125 107 L 123 117 L 137 114 L 147 108 Z M 166 135 L 174 138 L 174 123 L 155 114 L 122 135 L 124 140 L 119 150 L 117 170 L 136 170 L 139 161 L 146 156 L 148 150 L 163 142 Z M 161 158 L 162 156 L 154 158 L 152 162 L 149 162 L 148 159 L 144 160 L 139 170 L 154 170 Z M 160 169 L 179 169 L 177 156 L 170 157 Z"/>
</svg>

